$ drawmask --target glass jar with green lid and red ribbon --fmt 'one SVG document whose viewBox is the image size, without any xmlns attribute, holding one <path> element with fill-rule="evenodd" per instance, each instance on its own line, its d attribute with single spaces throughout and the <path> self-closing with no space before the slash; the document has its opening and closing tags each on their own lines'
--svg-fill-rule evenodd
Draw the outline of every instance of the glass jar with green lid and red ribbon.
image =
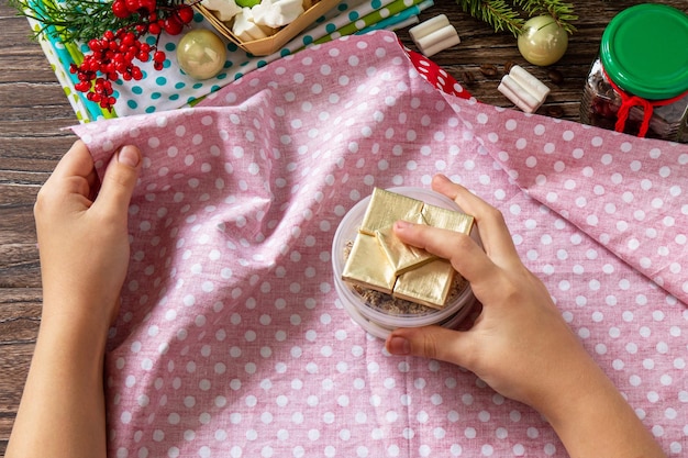
<svg viewBox="0 0 688 458">
<path fill-rule="evenodd" d="M 688 15 L 643 3 L 604 29 L 580 121 L 641 137 L 688 143 Z"/>
</svg>

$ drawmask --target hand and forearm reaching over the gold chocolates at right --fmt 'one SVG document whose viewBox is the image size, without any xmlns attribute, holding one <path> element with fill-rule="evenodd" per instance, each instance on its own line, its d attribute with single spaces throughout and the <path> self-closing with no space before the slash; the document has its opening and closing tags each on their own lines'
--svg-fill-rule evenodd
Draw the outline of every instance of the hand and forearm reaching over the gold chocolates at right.
<svg viewBox="0 0 688 458">
<path fill-rule="evenodd" d="M 432 187 L 475 216 L 469 236 L 406 222 L 406 243 L 452 261 L 482 311 L 468 331 L 396 329 L 386 346 L 471 370 L 501 394 L 540 411 L 572 457 L 664 457 L 615 387 L 568 328 L 544 284 L 521 262 L 501 213 L 443 176 Z"/>
</svg>

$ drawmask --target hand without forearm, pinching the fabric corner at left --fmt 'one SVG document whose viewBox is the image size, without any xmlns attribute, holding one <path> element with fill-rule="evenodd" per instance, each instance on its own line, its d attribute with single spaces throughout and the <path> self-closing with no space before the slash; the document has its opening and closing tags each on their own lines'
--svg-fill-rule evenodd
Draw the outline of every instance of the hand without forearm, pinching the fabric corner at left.
<svg viewBox="0 0 688 458">
<path fill-rule="evenodd" d="M 129 265 L 127 209 L 140 165 L 140 150 L 124 146 L 100 183 L 91 155 L 78 141 L 38 192 L 34 215 L 44 322 L 62 317 L 62 325 L 107 331 L 114 321 Z"/>
</svg>

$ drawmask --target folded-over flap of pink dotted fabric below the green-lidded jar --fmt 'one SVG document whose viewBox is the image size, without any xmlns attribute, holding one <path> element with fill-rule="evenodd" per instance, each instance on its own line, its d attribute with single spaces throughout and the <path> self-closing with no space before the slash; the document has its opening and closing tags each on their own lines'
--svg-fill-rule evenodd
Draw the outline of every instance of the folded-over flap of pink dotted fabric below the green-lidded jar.
<svg viewBox="0 0 688 458">
<path fill-rule="evenodd" d="M 496 111 L 502 129 L 478 120 L 476 135 L 499 136 L 488 150 L 513 181 L 686 302 L 688 147 Z"/>
</svg>

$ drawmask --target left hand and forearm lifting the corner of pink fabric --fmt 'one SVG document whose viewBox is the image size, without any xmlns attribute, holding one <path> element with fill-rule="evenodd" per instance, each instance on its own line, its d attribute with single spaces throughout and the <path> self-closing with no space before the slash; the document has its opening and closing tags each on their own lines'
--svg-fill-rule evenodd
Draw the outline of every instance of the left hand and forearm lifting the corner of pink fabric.
<svg viewBox="0 0 688 458">
<path fill-rule="evenodd" d="M 101 183 L 76 142 L 38 192 L 43 314 L 8 458 L 107 455 L 106 340 L 129 265 L 126 214 L 140 168 L 138 149 L 124 146 Z"/>
</svg>

